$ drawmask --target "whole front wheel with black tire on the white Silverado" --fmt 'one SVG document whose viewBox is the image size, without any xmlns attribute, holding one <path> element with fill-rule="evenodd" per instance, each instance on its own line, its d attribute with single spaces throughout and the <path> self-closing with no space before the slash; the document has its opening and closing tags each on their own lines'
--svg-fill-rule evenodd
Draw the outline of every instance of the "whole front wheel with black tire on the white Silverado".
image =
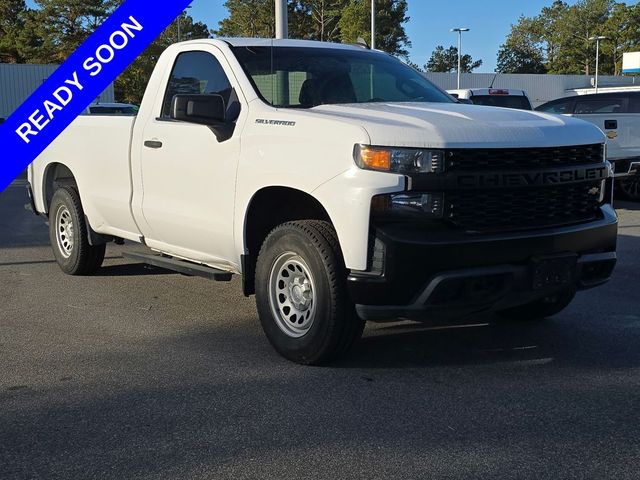
<svg viewBox="0 0 640 480">
<path fill-rule="evenodd" d="M 348 298 L 340 246 L 327 222 L 289 222 L 267 236 L 256 266 L 256 304 L 271 345 L 303 365 L 345 355 L 364 329 Z"/>
</svg>

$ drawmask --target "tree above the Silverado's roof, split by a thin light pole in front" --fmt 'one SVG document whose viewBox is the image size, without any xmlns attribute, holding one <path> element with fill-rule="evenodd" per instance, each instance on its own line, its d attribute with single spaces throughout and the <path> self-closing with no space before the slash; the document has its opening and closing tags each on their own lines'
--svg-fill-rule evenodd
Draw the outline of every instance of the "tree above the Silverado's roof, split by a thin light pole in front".
<svg viewBox="0 0 640 480">
<path fill-rule="evenodd" d="M 404 24 L 409 21 L 406 0 L 376 0 L 376 48 L 408 58 L 411 46 Z M 350 0 L 338 22 L 344 43 L 363 38 L 371 43 L 371 2 Z"/>
</svg>

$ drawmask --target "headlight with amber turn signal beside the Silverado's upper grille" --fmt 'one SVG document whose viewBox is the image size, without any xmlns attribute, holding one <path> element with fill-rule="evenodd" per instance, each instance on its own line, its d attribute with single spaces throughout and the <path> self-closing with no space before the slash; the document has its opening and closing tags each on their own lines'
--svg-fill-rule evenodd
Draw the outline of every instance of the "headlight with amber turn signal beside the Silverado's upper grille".
<svg viewBox="0 0 640 480">
<path fill-rule="evenodd" d="M 443 150 L 356 145 L 353 158 L 365 170 L 405 175 L 444 172 Z"/>
</svg>

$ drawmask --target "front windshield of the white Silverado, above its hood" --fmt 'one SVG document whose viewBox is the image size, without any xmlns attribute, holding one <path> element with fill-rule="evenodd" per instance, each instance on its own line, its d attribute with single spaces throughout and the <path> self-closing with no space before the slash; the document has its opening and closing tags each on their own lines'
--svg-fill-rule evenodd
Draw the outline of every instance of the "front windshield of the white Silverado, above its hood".
<svg viewBox="0 0 640 480">
<path fill-rule="evenodd" d="M 371 102 L 454 103 L 399 60 L 370 50 L 234 47 L 262 99 L 274 107 Z"/>
</svg>

